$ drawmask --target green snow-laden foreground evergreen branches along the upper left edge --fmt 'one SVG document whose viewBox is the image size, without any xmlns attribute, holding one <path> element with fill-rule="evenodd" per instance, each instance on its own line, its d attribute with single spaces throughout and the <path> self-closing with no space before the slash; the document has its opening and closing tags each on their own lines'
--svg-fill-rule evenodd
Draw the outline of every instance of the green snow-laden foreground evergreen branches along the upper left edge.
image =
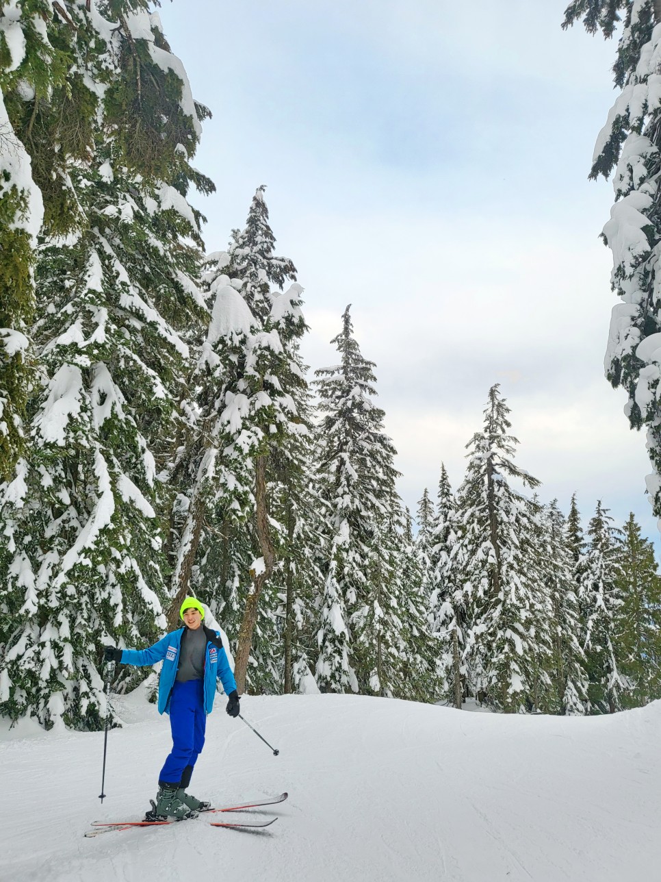
<svg viewBox="0 0 661 882">
<path fill-rule="evenodd" d="M 7 4 L 5 4 L 6 6 Z M 37 235 L 77 228 L 68 171 L 93 146 L 96 98 L 85 65 L 98 63 L 85 10 L 45 0 L 0 15 L 0 479 L 25 447 L 34 382 L 29 325 Z M 72 59 L 77 64 L 71 64 Z M 73 120 L 75 119 L 75 123 Z"/>
</svg>

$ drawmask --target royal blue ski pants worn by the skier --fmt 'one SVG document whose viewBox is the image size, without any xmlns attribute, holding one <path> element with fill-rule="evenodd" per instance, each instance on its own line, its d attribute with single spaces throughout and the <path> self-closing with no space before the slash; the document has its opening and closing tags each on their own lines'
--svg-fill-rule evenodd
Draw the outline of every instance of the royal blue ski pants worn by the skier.
<svg viewBox="0 0 661 882">
<path fill-rule="evenodd" d="M 170 729 L 172 751 L 160 770 L 159 781 L 178 784 L 183 770 L 195 766 L 204 747 L 204 680 L 175 681 L 170 695 Z"/>
</svg>

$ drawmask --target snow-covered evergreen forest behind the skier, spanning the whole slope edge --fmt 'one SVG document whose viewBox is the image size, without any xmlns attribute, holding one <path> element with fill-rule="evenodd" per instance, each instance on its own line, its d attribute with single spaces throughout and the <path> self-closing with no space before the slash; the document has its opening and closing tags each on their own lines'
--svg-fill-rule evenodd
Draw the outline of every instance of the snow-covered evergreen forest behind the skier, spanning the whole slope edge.
<svg viewBox="0 0 661 882">
<path fill-rule="evenodd" d="M 347 307 L 310 377 L 303 289 L 256 190 L 205 254 L 193 99 L 143 0 L 0 18 L 0 712 L 102 725 L 101 647 L 196 594 L 239 691 L 586 713 L 657 695 L 630 519 L 526 497 L 497 386 L 452 494 L 397 494 Z M 115 689 L 144 676 L 120 670 Z M 314 686 L 312 685 L 314 682 Z"/>
</svg>

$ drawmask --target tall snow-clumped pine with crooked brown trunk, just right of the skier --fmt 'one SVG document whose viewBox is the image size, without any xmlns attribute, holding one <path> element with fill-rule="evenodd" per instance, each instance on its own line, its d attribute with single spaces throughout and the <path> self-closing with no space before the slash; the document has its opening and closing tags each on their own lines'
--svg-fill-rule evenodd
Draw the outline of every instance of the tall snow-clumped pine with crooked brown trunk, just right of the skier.
<svg viewBox="0 0 661 882">
<path fill-rule="evenodd" d="M 210 566 L 221 565 L 224 609 L 240 618 L 235 658 L 240 691 L 246 684 L 253 691 L 281 688 L 277 583 L 291 563 L 287 530 L 293 525 L 295 532 L 296 512 L 290 510 L 293 520 L 286 522 L 286 503 L 280 501 L 283 482 L 301 487 L 297 469 L 304 464 L 302 438 L 309 431 L 299 354 L 307 329 L 302 288 L 294 283 L 281 291 L 286 280 L 295 280 L 295 268 L 274 254 L 268 219 L 264 187 L 259 187 L 246 228 L 234 230 L 227 254 L 211 256 L 205 275 L 213 306 L 201 388 L 210 388 L 200 408 L 210 426 L 209 445 L 222 452 L 208 504 L 226 538 L 226 552 L 219 557 L 203 550 L 198 578 L 207 586 L 218 585 Z M 180 581 L 179 593 L 186 590 Z"/>
</svg>

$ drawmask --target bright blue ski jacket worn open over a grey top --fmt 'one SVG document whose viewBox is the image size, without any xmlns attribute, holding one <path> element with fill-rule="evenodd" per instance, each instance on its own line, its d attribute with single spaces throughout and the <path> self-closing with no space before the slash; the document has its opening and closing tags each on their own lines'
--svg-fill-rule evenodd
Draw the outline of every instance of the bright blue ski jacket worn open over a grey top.
<svg viewBox="0 0 661 882">
<path fill-rule="evenodd" d="M 122 664 L 134 664 L 138 667 L 163 662 L 159 677 L 159 714 L 170 712 L 170 693 L 175 685 L 177 667 L 179 666 L 179 650 L 182 644 L 184 628 L 171 631 L 158 643 L 146 649 L 123 649 Z M 213 632 L 220 637 L 219 632 Z M 220 678 L 227 695 L 235 691 L 234 674 L 227 662 L 227 654 L 223 647 L 217 647 L 210 640 L 206 643 L 204 657 L 204 710 L 211 714 L 213 699 L 216 697 L 216 678 Z"/>
</svg>

